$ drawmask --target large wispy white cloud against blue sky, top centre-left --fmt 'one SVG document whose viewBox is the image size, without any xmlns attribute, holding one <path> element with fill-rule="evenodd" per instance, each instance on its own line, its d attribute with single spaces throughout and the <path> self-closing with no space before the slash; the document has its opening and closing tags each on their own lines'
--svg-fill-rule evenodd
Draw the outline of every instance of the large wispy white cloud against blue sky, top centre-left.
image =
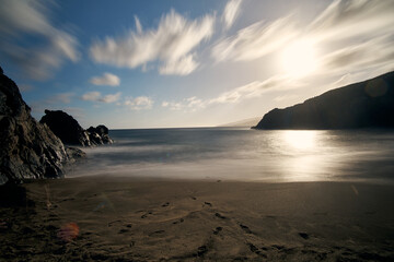
<svg viewBox="0 0 394 262">
<path fill-rule="evenodd" d="M 96 40 L 90 53 L 97 63 L 134 69 L 147 62 L 161 61 L 163 73 L 185 73 L 176 63 L 188 62 L 188 71 L 197 67 L 189 52 L 212 35 L 213 22 L 212 15 L 188 21 L 171 11 L 160 20 L 157 29 L 142 32 L 136 19 L 137 33 L 131 31 L 124 37 Z"/>
</svg>

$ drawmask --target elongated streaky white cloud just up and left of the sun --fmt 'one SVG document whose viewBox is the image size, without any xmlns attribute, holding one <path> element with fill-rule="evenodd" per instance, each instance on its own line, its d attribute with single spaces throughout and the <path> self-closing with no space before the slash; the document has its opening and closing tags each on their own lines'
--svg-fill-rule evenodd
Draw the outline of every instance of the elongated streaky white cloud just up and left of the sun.
<svg viewBox="0 0 394 262">
<path fill-rule="evenodd" d="M 217 61 L 255 60 L 279 50 L 299 34 L 291 16 L 266 24 L 263 21 L 252 24 L 234 36 L 219 40 L 211 55 Z"/>
</svg>

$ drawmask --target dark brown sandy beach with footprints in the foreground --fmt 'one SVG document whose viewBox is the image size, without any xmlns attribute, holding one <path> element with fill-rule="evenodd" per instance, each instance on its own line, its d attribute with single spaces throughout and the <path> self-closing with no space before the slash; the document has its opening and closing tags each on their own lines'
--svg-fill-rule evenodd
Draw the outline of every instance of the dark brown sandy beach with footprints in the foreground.
<svg viewBox="0 0 394 262">
<path fill-rule="evenodd" d="M 1 201 L 0 261 L 394 261 L 394 187 L 89 177 Z"/>
</svg>

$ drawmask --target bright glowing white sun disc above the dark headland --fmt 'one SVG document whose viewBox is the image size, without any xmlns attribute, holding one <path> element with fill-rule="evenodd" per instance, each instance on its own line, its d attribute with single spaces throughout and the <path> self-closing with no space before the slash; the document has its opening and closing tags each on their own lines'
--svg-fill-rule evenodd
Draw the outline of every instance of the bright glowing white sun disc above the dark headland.
<svg viewBox="0 0 394 262">
<path fill-rule="evenodd" d="M 292 78 L 302 78 L 314 72 L 318 64 L 313 41 L 300 39 L 290 43 L 281 52 L 281 66 Z"/>
</svg>

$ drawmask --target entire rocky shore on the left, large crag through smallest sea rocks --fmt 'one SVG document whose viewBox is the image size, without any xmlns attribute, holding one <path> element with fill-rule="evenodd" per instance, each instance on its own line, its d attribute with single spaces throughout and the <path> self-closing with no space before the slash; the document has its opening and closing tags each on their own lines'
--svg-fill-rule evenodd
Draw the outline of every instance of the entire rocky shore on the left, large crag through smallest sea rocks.
<svg viewBox="0 0 394 262">
<path fill-rule="evenodd" d="M 62 111 L 46 110 L 46 116 L 36 121 L 18 85 L 1 68 L 0 130 L 0 184 L 61 178 L 68 165 L 85 155 L 69 145 L 113 143 L 105 126 L 83 130 L 76 119 Z M 71 134 L 73 140 L 63 134 Z"/>
</svg>

